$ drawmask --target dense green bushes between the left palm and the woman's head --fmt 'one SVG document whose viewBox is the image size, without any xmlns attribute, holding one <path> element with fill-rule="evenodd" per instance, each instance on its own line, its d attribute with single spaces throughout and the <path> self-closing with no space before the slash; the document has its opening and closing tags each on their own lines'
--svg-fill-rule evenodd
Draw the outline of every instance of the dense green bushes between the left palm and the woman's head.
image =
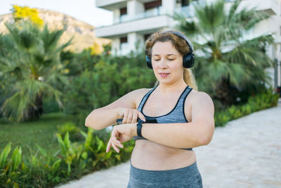
<svg viewBox="0 0 281 188">
<path fill-rule="evenodd" d="M 79 62 L 76 70 L 81 72 L 70 70 L 74 75 L 65 88 L 65 111 L 81 113 L 83 118 L 94 108 L 110 104 L 134 89 L 151 87 L 155 82 L 142 54 L 92 56 L 91 51 L 83 51 L 74 61 Z"/>
</svg>

